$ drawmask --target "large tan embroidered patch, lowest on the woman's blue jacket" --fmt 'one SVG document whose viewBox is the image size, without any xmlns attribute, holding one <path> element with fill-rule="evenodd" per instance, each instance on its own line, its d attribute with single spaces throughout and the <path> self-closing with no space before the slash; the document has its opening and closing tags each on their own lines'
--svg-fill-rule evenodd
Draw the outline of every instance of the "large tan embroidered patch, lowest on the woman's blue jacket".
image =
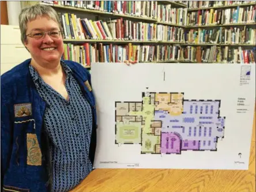
<svg viewBox="0 0 256 192">
<path fill-rule="evenodd" d="M 27 164 L 28 165 L 42 165 L 42 153 L 36 134 L 27 133 Z"/>
</svg>

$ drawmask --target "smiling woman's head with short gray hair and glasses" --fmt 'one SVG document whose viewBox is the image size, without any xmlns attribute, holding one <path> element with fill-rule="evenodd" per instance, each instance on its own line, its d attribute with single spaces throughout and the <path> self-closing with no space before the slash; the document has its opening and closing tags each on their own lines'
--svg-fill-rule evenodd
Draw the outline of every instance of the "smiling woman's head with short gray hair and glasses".
<svg viewBox="0 0 256 192">
<path fill-rule="evenodd" d="M 58 14 L 51 7 L 40 5 L 41 9 L 36 8 L 39 9 L 39 5 L 33 10 L 37 14 L 29 14 L 32 7 L 20 14 L 21 41 L 31 53 L 32 66 L 47 65 L 54 69 L 64 51 L 62 27 Z"/>
</svg>

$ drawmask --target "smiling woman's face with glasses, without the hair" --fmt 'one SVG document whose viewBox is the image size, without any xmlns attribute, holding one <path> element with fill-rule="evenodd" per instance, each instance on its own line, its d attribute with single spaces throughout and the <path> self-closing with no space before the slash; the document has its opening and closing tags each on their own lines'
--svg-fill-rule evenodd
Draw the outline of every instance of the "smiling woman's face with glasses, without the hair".
<svg viewBox="0 0 256 192">
<path fill-rule="evenodd" d="M 48 32 L 52 30 L 61 31 L 57 22 L 49 17 L 37 17 L 27 23 L 26 35 L 33 34 L 35 37 L 27 36 L 24 44 L 37 63 L 58 62 L 62 57 L 64 48 L 61 34 L 59 37 L 51 37 L 46 33 L 44 37 L 36 38 L 42 34 L 42 31 Z"/>
</svg>

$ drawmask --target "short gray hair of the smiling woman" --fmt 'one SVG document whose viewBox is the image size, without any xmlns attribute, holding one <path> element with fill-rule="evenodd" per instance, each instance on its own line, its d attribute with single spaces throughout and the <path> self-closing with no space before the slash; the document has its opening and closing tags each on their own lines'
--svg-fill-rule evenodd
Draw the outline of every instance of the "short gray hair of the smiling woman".
<svg viewBox="0 0 256 192">
<path fill-rule="evenodd" d="M 43 5 L 37 3 L 36 5 L 25 7 L 21 10 L 20 15 L 18 16 L 18 22 L 20 25 L 21 31 L 21 42 L 24 44 L 25 40 L 27 40 L 26 32 L 27 32 L 27 23 L 28 21 L 33 21 L 37 16 L 48 16 L 59 25 L 59 29 L 61 30 L 61 34 L 63 35 L 61 21 L 59 20 L 58 13 L 49 5 Z"/>
</svg>

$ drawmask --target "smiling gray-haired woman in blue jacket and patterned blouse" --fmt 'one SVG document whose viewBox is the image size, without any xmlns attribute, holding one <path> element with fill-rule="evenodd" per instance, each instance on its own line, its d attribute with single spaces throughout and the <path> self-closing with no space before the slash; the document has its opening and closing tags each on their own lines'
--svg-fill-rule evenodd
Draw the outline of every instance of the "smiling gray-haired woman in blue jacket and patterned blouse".
<svg viewBox="0 0 256 192">
<path fill-rule="evenodd" d="M 52 7 L 25 8 L 19 22 L 31 59 L 1 76 L 2 189 L 69 191 L 93 169 L 91 77 L 80 64 L 61 60 L 63 33 Z"/>
</svg>

